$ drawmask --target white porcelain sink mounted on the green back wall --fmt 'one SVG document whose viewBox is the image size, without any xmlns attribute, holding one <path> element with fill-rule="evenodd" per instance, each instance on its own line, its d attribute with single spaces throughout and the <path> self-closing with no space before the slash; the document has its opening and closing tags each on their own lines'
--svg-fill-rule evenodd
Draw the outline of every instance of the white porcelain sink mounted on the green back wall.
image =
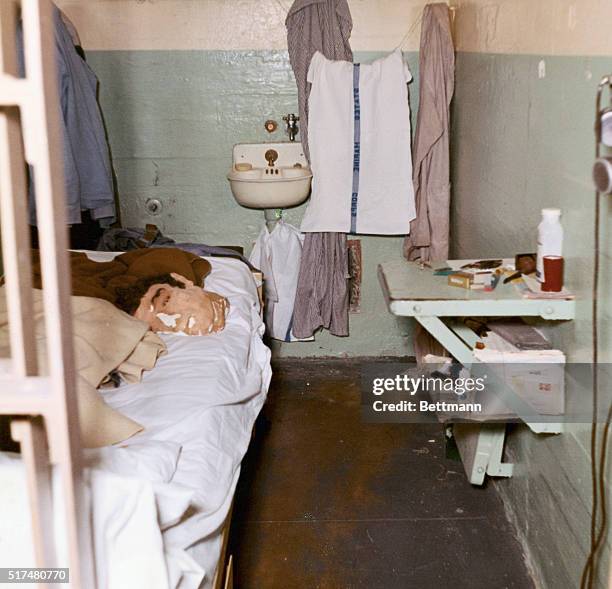
<svg viewBox="0 0 612 589">
<path fill-rule="evenodd" d="M 234 198 L 252 209 L 285 209 L 310 194 L 312 172 L 300 143 L 239 143 L 227 175 Z"/>
</svg>

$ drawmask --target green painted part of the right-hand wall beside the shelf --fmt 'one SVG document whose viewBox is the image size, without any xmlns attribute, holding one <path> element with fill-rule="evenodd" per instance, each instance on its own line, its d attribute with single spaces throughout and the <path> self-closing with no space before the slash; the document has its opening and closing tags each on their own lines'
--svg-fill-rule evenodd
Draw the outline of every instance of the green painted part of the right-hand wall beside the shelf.
<svg viewBox="0 0 612 589">
<path fill-rule="evenodd" d="M 545 61 L 546 76 L 538 67 Z M 563 210 L 566 283 L 575 321 L 552 328 L 569 361 L 591 358 L 595 89 L 609 57 L 459 53 L 453 108 L 452 243 L 457 257 L 535 251 L 540 209 Z M 610 199 L 602 197 L 601 344 L 609 361 L 612 277 Z M 568 383 L 568 387 L 572 387 Z M 589 390 L 570 388 L 589 406 Z M 589 427 L 561 436 L 518 428 L 508 454 L 515 476 L 497 483 L 544 588 L 579 586 L 589 538 Z M 604 548 L 609 553 L 610 546 Z M 601 577 L 607 572 L 603 563 Z M 601 582 L 600 586 L 604 586 Z"/>
</svg>

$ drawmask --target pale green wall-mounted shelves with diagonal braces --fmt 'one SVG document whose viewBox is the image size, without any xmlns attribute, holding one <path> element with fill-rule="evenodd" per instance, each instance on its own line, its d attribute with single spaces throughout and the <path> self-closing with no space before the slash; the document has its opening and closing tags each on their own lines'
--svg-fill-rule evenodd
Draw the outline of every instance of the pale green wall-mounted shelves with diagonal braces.
<svg viewBox="0 0 612 589">
<path fill-rule="evenodd" d="M 445 278 L 434 276 L 430 268 L 406 260 L 380 264 L 378 277 L 391 313 L 414 317 L 464 366 L 478 362 L 474 356 L 478 337 L 465 325 L 453 323 L 452 318 L 540 317 L 545 320 L 571 320 L 576 313 L 574 300 L 525 299 L 512 284 L 500 284 L 492 292 L 448 286 Z M 522 407 L 516 397 L 514 402 L 517 415 L 527 415 L 528 406 Z M 562 431 L 560 423 L 536 422 L 528 418 L 524 421 L 535 433 Z M 482 485 L 487 474 L 512 476 L 513 465 L 502 461 L 505 424 L 457 424 L 453 427 L 453 433 L 466 474 L 473 485 Z"/>
</svg>

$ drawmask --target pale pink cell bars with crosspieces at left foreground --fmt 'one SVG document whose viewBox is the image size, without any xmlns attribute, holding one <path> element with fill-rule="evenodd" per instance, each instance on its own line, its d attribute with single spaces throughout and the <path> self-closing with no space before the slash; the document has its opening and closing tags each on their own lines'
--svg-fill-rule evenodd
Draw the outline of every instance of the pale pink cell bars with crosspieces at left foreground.
<svg viewBox="0 0 612 589">
<path fill-rule="evenodd" d="M 22 20 L 26 75 L 16 31 Z M 0 376 L 0 415 L 21 444 L 36 566 L 57 562 L 51 462 L 59 469 L 70 585 L 95 588 L 89 506 L 81 484 L 81 445 L 70 314 L 70 274 L 50 0 L 0 0 L 0 223 L 11 358 Z M 23 139 L 22 139 L 23 138 Z M 32 329 L 26 164 L 33 170 L 44 283 L 48 370 L 41 376 Z M 59 499 L 59 498 L 56 498 Z M 52 586 L 41 584 L 40 586 Z M 64 587 L 66 585 L 63 585 Z"/>
</svg>

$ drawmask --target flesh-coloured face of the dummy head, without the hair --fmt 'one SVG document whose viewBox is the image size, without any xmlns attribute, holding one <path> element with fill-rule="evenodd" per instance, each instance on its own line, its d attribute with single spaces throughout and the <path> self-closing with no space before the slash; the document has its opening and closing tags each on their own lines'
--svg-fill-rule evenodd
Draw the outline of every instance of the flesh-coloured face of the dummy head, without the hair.
<svg viewBox="0 0 612 589">
<path fill-rule="evenodd" d="M 227 299 L 198 288 L 179 274 L 171 274 L 184 288 L 153 284 L 140 299 L 134 316 L 153 331 L 209 335 L 225 327 Z"/>
</svg>

